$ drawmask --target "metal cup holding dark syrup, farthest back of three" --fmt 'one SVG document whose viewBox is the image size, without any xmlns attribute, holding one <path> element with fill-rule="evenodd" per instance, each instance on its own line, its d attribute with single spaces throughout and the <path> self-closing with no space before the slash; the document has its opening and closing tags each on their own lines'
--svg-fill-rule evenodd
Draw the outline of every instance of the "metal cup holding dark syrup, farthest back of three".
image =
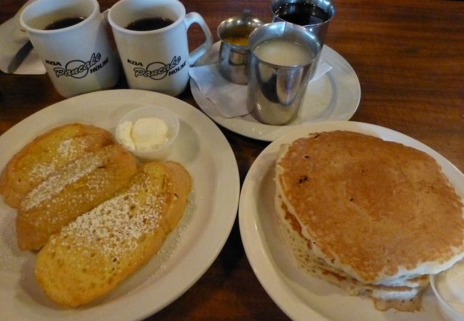
<svg viewBox="0 0 464 321">
<path fill-rule="evenodd" d="M 318 8 L 326 11 L 328 15 L 328 19 L 323 22 L 318 22 L 315 24 L 306 24 L 303 25 L 306 29 L 311 31 L 316 37 L 319 39 L 321 44 L 324 43 L 324 39 L 326 38 L 326 33 L 328 29 L 328 24 L 332 20 L 333 16 L 335 15 L 335 6 L 333 6 L 330 0 L 272 0 L 271 1 L 271 11 L 273 13 L 273 22 L 280 22 L 285 21 L 282 19 L 276 12 L 281 6 L 288 4 L 313 4 Z M 291 14 L 295 14 L 295 12 L 291 12 Z M 292 22 L 292 21 L 290 21 Z"/>
</svg>

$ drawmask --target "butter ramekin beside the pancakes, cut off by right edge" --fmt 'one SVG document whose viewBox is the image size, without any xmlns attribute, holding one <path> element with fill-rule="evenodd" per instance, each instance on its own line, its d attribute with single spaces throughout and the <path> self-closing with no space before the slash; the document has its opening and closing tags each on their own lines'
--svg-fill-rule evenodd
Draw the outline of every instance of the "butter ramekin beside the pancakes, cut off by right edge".
<svg viewBox="0 0 464 321">
<path fill-rule="evenodd" d="M 464 320 L 464 261 L 448 270 L 430 275 L 430 285 L 443 317 L 448 321 Z"/>
</svg>

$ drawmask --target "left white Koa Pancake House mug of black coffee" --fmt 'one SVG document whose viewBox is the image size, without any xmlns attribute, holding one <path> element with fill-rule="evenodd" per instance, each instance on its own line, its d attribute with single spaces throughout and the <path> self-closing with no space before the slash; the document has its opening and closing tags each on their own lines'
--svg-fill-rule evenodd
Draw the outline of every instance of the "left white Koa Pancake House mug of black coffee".
<svg viewBox="0 0 464 321">
<path fill-rule="evenodd" d="M 81 22 L 44 30 L 66 19 Z M 96 0 L 38 0 L 20 16 L 56 91 L 71 97 L 113 87 L 118 81 L 118 56 L 109 45 L 104 17 Z"/>
</svg>

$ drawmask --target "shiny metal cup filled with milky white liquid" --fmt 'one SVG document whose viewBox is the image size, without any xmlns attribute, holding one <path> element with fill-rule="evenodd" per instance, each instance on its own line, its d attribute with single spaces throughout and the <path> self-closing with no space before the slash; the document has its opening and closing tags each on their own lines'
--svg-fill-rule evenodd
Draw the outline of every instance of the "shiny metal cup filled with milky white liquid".
<svg viewBox="0 0 464 321">
<path fill-rule="evenodd" d="M 288 39 L 304 46 L 311 60 L 302 65 L 279 66 L 256 56 L 254 50 L 271 39 Z M 317 37 L 302 26 L 287 22 L 265 24 L 249 37 L 248 111 L 261 123 L 285 125 L 298 116 L 308 81 L 316 70 L 322 45 Z M 285 46 L 282 50 L 286 50 Z M 285 53 L 284 53 L 285 54 Z"/>
</svg>

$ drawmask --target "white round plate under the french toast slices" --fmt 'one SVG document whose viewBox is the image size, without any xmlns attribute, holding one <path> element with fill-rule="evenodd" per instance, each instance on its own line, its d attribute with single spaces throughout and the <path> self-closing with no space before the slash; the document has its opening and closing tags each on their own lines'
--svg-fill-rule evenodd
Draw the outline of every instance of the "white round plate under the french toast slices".
<svg viewBox="0 0 464 321">
<path fill-rule="evenodd" d="M 188 290 L 216 259 L 236 218 L 238 166 L 216 124 L 177 98 L 149 91 L 114 90 L 55 103 L 0 136 L 0 168 L 39 133 L 64 123 L 92 124 L 114 133 L 118 119 L 137 103 L 168 108 L 181 123 L 168 159 L 186 167 L 193 189 L 178 228 L 160 253 L 109 295 L 66 310 L 50 302 L 35 282 L 36 255 L 17 247 L 16 211 L 1 199 L 0 320 L 141 320 Z"/>
</svg>

